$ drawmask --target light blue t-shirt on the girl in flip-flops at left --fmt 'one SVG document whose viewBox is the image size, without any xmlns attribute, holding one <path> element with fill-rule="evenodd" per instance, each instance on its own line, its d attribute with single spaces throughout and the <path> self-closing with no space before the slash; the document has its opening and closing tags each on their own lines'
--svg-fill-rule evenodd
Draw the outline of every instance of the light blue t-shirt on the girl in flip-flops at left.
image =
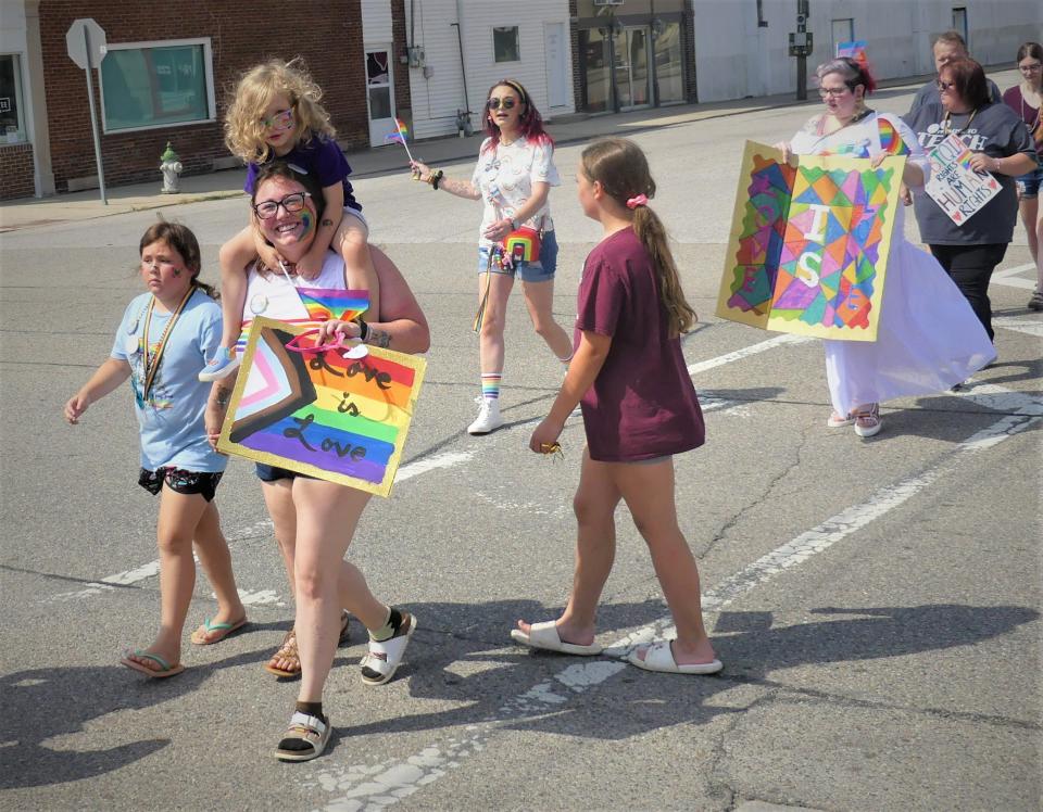
<svg viewBox="0 0 1043 812">
<path fill-rule="evenodd" d="M 111 356 L 130 365 L 130 386 L 141 428 L 141 467 L 150 471 L 167 466 L 188 471 L 223 471 L 228 458 L 206 441 L 203 414 L 211 385 L 198 376 L 206 358 L 221 345 L 221 306 L 202 290 L 194 290 L 174 323 L 160 359 L 149 399 L 144 401 L 144 322 L 151 293 L 127 306 Z M 153 309 L 149 325 L 149 353 L 159 347 L 171 314 Z"/>
</svg>

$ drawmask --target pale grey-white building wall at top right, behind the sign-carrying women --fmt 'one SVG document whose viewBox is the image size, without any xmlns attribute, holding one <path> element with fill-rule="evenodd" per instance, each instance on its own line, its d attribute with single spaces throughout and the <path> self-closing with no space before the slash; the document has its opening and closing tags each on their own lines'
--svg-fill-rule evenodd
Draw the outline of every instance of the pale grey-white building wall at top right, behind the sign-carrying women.
<svg viewBox="0 0 1043 812">
<path fill-rule="evenodd" d="M 1039 0 L 810 0 L 807 29 L 815 67 L 833 54 L 832 21 L 854 20 L 855 39 L 867 40 L 878 79 L 933 73 L 931 39 L 953 27 L 953 8 L 967 9 L 971 55 L 984 65 L 1014 64 L 1018 46 L 1043 41 Z M 701 102 L 796 90 L 796 60 L 789 34 L 796 30 L 796 0 L 763 0 L 767 27 L 757 25 L 754 0 L 692 0 L 695 76 Z"/>
</svg>

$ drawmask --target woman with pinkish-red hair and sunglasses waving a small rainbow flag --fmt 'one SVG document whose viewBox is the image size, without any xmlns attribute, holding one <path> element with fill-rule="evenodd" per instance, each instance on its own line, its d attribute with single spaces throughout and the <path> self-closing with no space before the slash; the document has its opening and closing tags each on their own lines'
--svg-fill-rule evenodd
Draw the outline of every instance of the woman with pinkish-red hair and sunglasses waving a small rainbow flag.
<svg viewBox="0 0 1043 812">
<path fill-rule="evenodd" d="M 478 152 L 470 180 L 447 177 L 413 162 L 413 177 L 457 198 L 480 200 L 485 206 L 478 237 L 478 359 L 481 395 L 472 434 L 488 434 L 503 426 L 500 381 L 503 376 L 503 328 L 515 276 L 522 280 L 525 304 L 536 332 L 563 364 L 573 342 L 554 320 L 554 271 L 557 240 L 548 195 L 561 178 L 554 167 L 554 142 L 528 91 L 514 79 L 489 89 L 485 111 L 488 138 Z"/>
</svg>

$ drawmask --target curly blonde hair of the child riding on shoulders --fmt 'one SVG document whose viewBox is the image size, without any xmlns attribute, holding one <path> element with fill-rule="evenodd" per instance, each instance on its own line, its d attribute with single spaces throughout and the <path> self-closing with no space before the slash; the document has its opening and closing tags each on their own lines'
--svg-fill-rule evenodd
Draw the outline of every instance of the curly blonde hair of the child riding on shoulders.
<svg viewBox="0 0 1043 812">
<path fill-rule="evenodd" d="M 336 135 L 329 113 L 319 104 L 323 90 L 309 75 L 304 61 L 300 56 L 289 62 L 269 60 L 242 75 L 225 115 L 225 144 L 247 163 L 262 164 L 272 156 L 261 119 L 277 96 L 285 96 L 293 111 L 294 143 Z"/>
</svg>

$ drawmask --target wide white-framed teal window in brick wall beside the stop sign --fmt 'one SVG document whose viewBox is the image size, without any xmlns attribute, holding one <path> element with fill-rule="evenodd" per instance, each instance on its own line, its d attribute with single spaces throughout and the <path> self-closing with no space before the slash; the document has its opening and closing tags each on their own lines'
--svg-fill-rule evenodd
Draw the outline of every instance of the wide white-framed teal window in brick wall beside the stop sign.
<svg viewBox="0 0 1043 812">
<path fill-rule="evenodd" d="M 214 120 L 210 39 L 109 43 L 101 102 L 105 132 Z"/>
</svg>

